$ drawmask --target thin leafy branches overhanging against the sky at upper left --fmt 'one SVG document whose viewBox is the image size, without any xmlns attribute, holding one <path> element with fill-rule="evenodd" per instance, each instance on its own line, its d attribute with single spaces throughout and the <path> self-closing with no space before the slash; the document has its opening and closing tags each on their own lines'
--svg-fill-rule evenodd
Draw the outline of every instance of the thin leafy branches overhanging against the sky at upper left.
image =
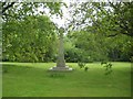
<svg viewBox="0 0 133 99">
<path fill-rule="evenodd" d="M 64 3 L 63 3 L 64 4 Z M 29 15 L 44 14 L 39 8 L 49 9 L 51 14 L 62 14 L 61 2 L 2 2 L 2 19 L 4 21 L 22 20 Z"/>
</svg>

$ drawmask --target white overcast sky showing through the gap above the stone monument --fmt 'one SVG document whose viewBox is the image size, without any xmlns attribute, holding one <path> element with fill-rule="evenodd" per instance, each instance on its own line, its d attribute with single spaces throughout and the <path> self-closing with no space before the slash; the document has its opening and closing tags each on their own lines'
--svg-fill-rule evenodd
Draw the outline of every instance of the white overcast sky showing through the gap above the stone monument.
<svg viewBox="0 0 133 99">
<path fill-rule="evenodd" d="M 71 13 L 69 12 L 69 7 L 70 7 L 70 3 L 73 3 L 73 2 L 76 2 L 78 4 L 81 3 L 81 2 L 86 2 L 89 0 L 63 0 L 63 2 L 66 3 L 68 8 L 65 8 L 64 6 L 61 7 L 62 9 L 62 12 L 63 12 L 63 16 L 62 19 L 60 16 L 57 16 L 57 15 L 52 15 L 52 21 L 58 24 L 59 28 L 65 28 L 65 25 L 68 25 L 69 21 L 68 20 L 71 20 L 72 19 L 72 15 Z M 101 1 L 104 1 L 104 2 L 108 2 L 108 0 L 90 0 L 90 1 L 93 1 L 93 2 L 101 2 Z M 121 0 L 110 0 L 110 1 L 113 1 L 113 2 L 119 2 Z M 44 9 L 44 8 L 40 8 L 39 10 L 41 11 L 44 11 L 47 15 L 50 16 L 50 10 L 49 9 Z"/>
</svg>

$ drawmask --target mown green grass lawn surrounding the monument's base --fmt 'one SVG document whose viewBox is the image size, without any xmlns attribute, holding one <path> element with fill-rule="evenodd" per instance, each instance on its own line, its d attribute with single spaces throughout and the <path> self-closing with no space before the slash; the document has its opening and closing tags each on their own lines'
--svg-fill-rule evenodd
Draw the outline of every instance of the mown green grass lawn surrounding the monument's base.
<svg viewBox="0 0 133 99">
<path fill-rule="evenodd" d="M 3 97 L 130 97 L 131 63 L 112 63 L 113 72 L 104 75 L 100 63 L 88 64 L 89 70 L 66 63 L 73 72 L 48 72 L 55 63 L 2 63 Z"/>
</svg>

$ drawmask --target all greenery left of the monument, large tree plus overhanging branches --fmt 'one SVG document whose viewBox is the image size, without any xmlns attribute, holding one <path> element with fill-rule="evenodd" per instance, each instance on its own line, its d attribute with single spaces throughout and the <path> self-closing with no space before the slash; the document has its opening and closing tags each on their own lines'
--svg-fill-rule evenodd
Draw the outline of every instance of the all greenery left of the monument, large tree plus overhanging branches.
<svg viewBox="0 0 133 99">
<path fill-rule="evenodd" d="M 50 15 L 62 14 L 62 2 L 2 2 L 3 61 L 48 62 L 55 59 L 57 26 Z"/>
</svg>

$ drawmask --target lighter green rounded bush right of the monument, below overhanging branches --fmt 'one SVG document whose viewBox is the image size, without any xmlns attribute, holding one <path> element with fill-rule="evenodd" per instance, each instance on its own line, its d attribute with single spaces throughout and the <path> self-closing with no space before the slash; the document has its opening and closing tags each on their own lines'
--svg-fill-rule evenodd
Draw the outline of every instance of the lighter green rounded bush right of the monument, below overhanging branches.
<svg viewBox="0 0 133 99">
<path fill-rule="evenodd" d="M 68 35 L 73 38 L 75 47 L 79 50 L 81 62 L 103 61 L 108 58 L 104 37 L 88 31 L 75 31 Z"/>
</svg>

